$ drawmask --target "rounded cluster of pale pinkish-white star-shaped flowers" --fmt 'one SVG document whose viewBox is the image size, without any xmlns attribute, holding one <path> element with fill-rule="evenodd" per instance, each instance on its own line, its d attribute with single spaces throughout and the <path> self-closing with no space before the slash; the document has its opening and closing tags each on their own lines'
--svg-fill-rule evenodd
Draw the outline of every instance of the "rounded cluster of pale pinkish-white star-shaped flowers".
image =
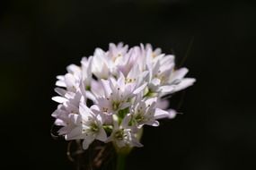
<svg viewBox="0 0 256 170">
<path fill-rule="evenodd" d="M 184 78 L 187 68 L 176 69 L 174 55 L 164 55 L 151 45 L 139 47 L 110 43 L 109 50 L 96 48 L 57 76 L 59 103 L 52 114 L 66 140 L 113 142 L 118 149 L 141 147 L 139 134 L 144 125 L 158 126 L 161 118 L 173 118 L 163 99 L 192 85 Z"/>
</svg>

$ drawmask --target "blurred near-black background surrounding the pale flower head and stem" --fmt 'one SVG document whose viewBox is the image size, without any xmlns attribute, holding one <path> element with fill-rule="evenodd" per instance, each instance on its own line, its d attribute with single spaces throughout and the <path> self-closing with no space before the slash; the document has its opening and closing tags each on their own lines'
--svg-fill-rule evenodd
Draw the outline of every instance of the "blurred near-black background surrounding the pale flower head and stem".
<svg viewBox="0 0 256 170">
<path fill-rule="evenodd" d="M 1 1 L 2 2 L 2 1 Z M 95 47 L 151 43 L 196 84 L 176 119 L 148 127 L 128 169 L 256 169 L 255 30 L 250 1 L 62 1 L 0 4 L 1 169 L 71 169 L 49 129 L 58 74 Z M 190 50 L 188 50 L 190 49 Z"/>
</svg>

